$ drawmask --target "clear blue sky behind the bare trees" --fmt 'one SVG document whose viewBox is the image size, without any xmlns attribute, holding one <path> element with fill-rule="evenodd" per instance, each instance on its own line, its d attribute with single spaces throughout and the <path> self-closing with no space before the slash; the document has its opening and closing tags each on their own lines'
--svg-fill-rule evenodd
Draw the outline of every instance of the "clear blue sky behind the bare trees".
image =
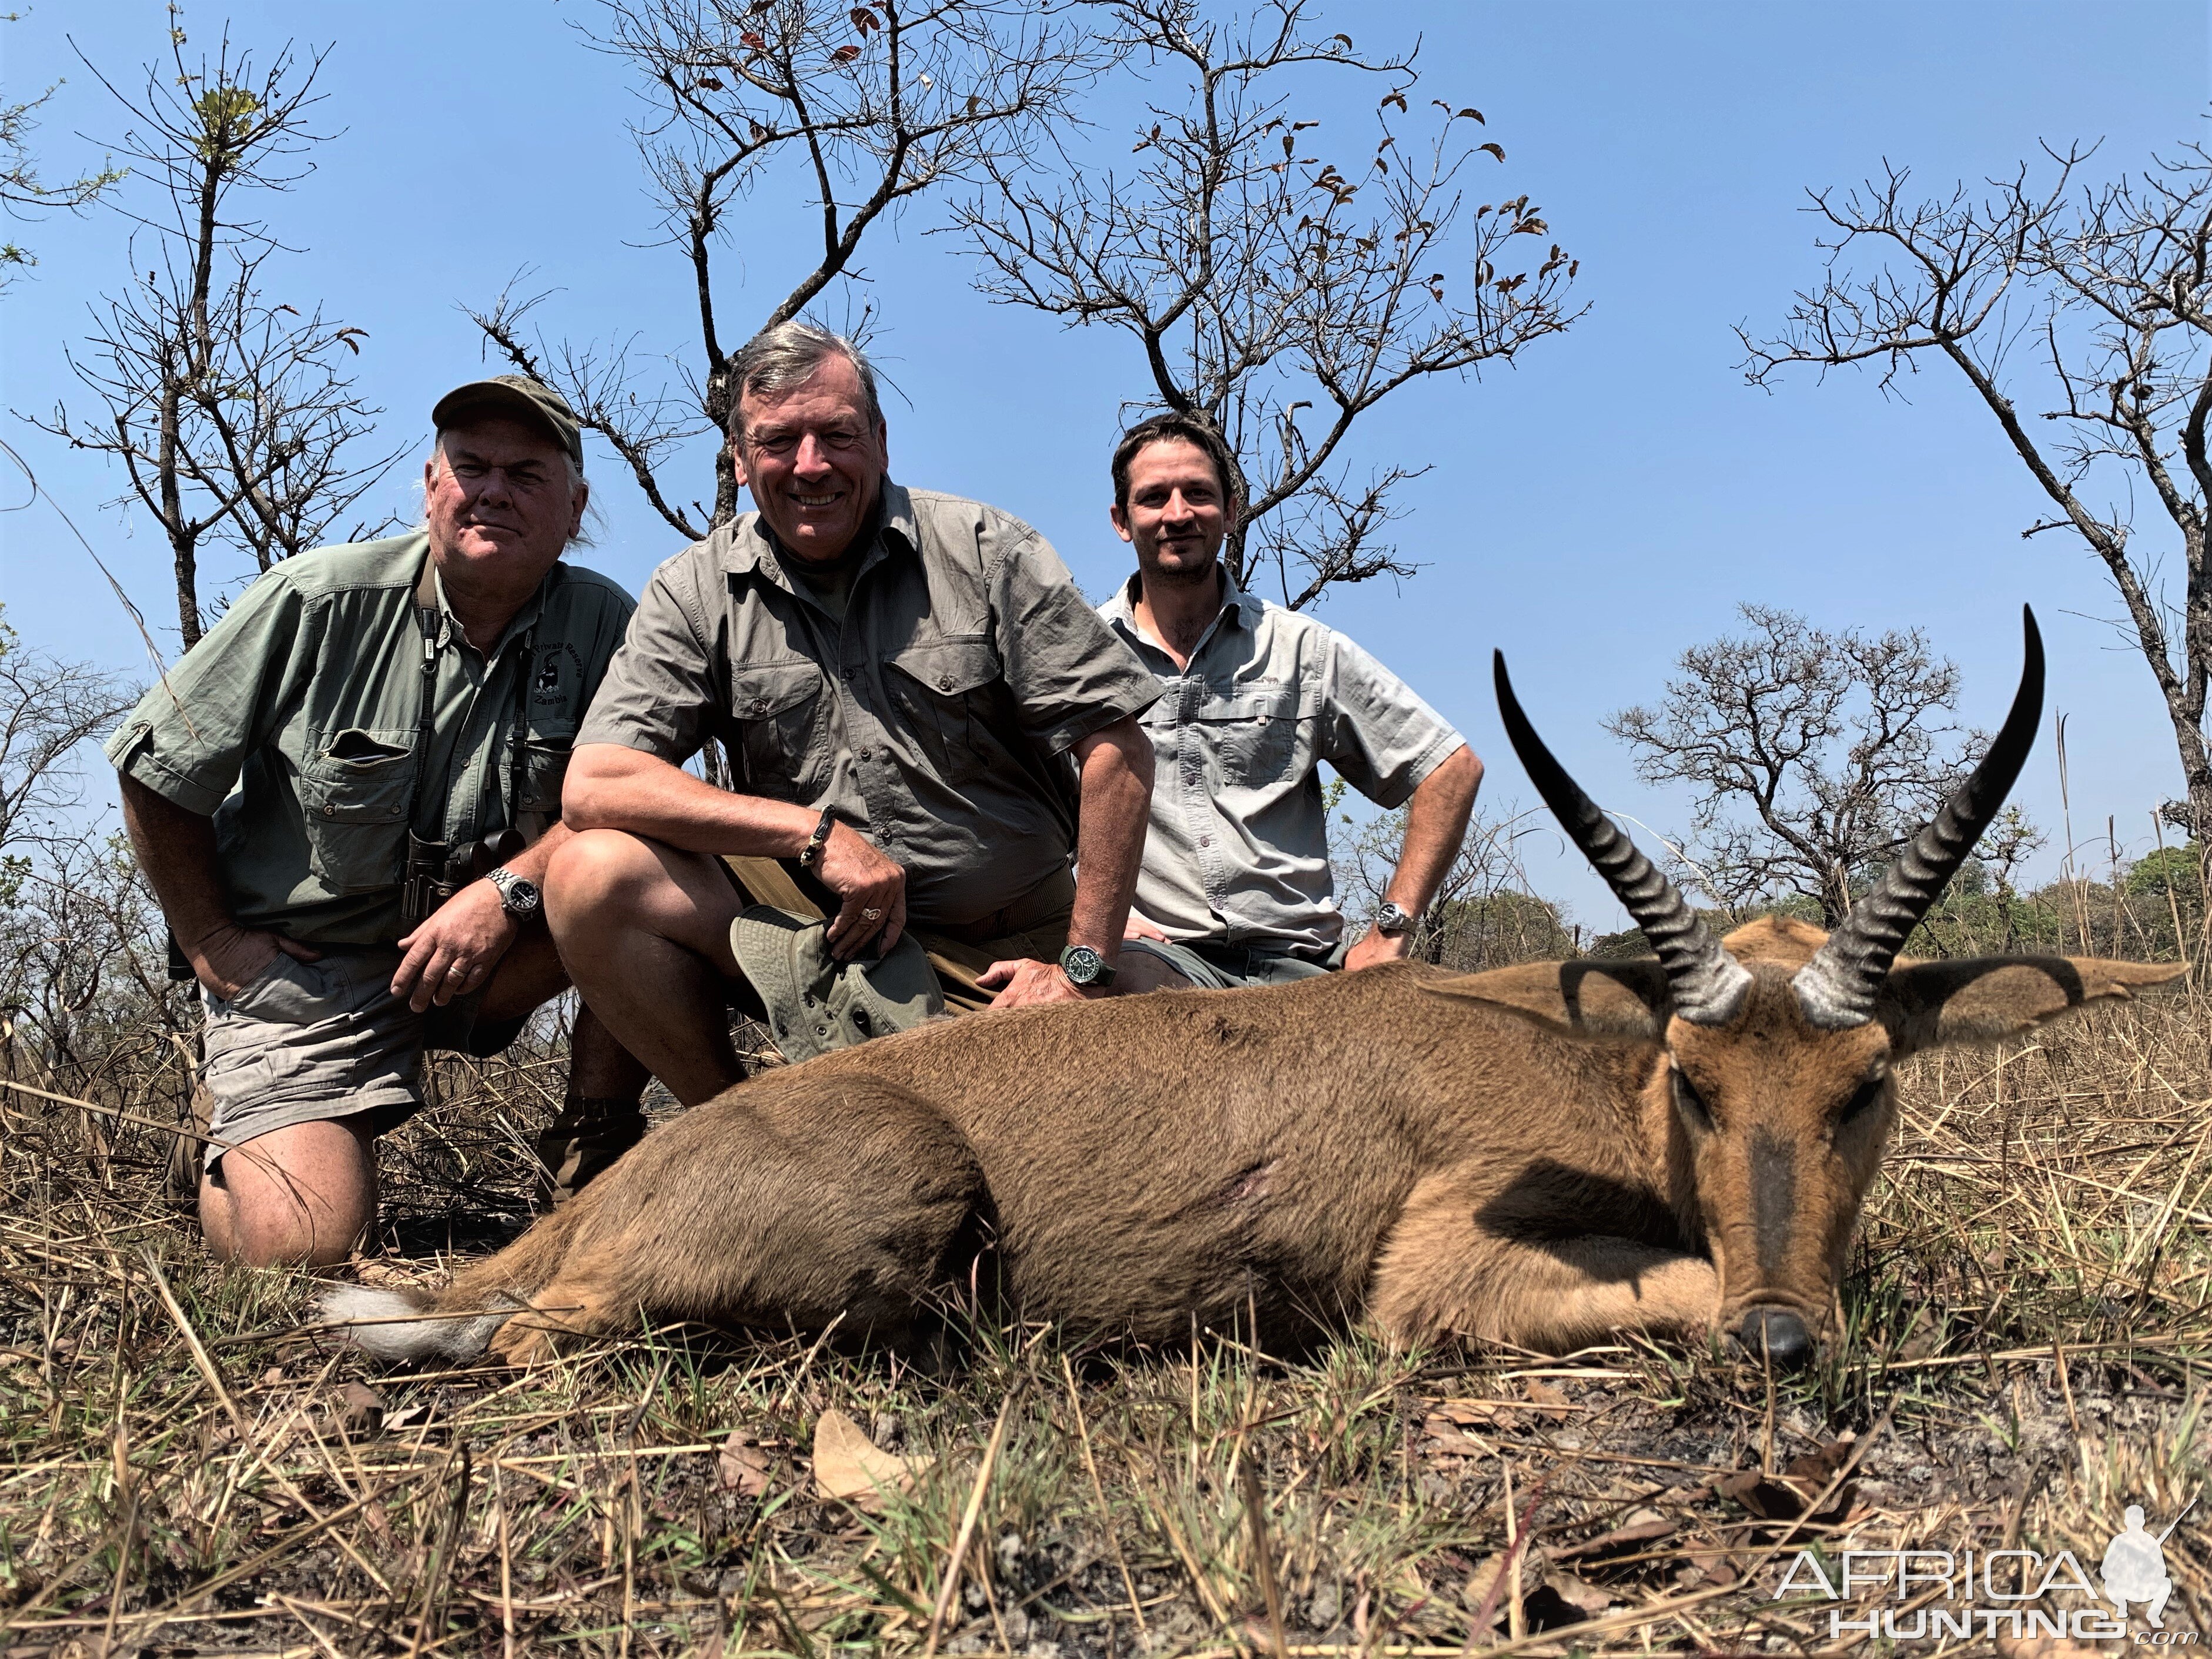
<svg viewBox="0 0 2212 1659">
<path fill-rule="evenodd" d="M 487 303 L 524 265 L 560 290 L 542 312 L 549 325 L 688 345 L 686 272 L 648 246 L 653 208 L 624 128 L 637 104 L 619 64 L 568 27 L 593 15 L 588 0 L 195 4 L 184 18 L 195 44 L 223 15 L 261 51 L 332 46 L 323 113 L 343 137 L 272 204 L 279 232 L 303 250 L 279 261 L 279 285 L 367 330 L 363 387 L 387 409 L 392 442 L 427 440 L 429 403 L 478 372 L 458 305 Z M 2115 814 L 2121 843 L 2146 849 L 2148 810 L 2179 794 L 2157 692 L 2104 622 L 2117 599 L 2101 566 L 2057 535 L 2022 542 L 2037 495 L 1989 416 L 1936 374 L 1911 385 L 1909 403 L 1856 376 L 1747 389 L 1732 325 L 1778 323 L 1814 276 L 1805 186 L 1851 184 L 1889 159 L 1947 190 L 2008 170 L 2039 139 L 2101 139 L 2097 166 L 2110 173 L 2199 137 L 2205 4 L 1462 0 L 1325 4 L 1323 15 L 1363 49 L 1418 35 L 1422 95 L 1484 111 L 1486 137 L 1509 153 L 1495 188 L 1528 190 L 1582 259 L 1590 312 L 1568 336 L 1517 369 L 1422 387 L 1371 418 L 1363 458 L 1431 467 L 1398 526 L 1427 568 L 1323 608 L 1467 730 L 1491 761 L 1489 794 L 1531 801 L 1491 706 L 1491 646 L 1509 653 L 1522 699 L 1599 801 L 1681 827 L 1683 803 L 1637 783 L 1599 719 L 1657 695 L 1672 657 L 1730 628 L 1739 602 L 1829 626 L 1922 626 L 1964 670 L 1964 717 L 1993 726 L 2017 675 L 2026 599 L 2051 644 L 2051 708 L 2070 714 L 2075 834 L 2095 825 L 2101 845 Z M 97 161 L 117 117 L 64 33 L 128 80 L 166 27 L 148 0 L 44 0 L 0 27 L 11 100 L 66 77 L 38 135 L 49 177 Z M 1349 122 L 1352 108 L 1371 104 L 1325 113 Z M 1130 91 L 1095 115 L 1126 126 Z M 796 206 L 796 181 L 776 179 L 745 217 L 723 257 L 728 319 L 757 316 L 805 268 Z M 1141 365 L 1119 336 L 1066 334 L 984 303 L 971 261 L 927 234 L 936 221 L 931 208 L 911 212 L 863 254 L 878 354 L 898 385 L 894 471 L 1029 518 L 1104 595 L 1126 571 L 1106 524 L 1104 458 L 1121 400 L 1144 392 Z M 93 215 L 11 234 L 40 265 L 0 299 L 0 403 L 82 400 L 62 347 L 84 334 L 86 301 L 117 285 L 124 226 Z M 7 422 L 148 617 L 168 617 L 159 538 L 104 507 L 122 480 Z M 690 467 L 703 493 L 703 451 Z M 637 588 L 675 538 L 611 458 L 595 456 L 591 471 L 604 522 L 586 562 Z M 409 513 L 414 476 L 414 460 L 398 467 L 378 504 Z M 97 573 L 44 509 L 0 518 L 0 597 L 42 648 L 139 664 Z M 2015 799 L 2055 847 L 2048 743 Z M 1577 920 L 1619 925 L 1548 838 L 1528 854 L 1537 887 L 1568 898 Z"/>
</svg>

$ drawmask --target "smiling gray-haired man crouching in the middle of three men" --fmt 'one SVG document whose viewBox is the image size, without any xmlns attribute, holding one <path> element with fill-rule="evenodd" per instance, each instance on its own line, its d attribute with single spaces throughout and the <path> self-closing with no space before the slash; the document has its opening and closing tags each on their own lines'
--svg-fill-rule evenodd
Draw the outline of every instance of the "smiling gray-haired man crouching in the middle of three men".
<svg viewBox="0 0 2212 1659">
<path fill-rule="evenodd" d="M 783 323 L 732 378 L 757 511 L 646 586 L 546 891 L 577 987 L 686 1104 L 743 1077 L 732 1002 L 801 1060 L 1106 993 L 1159 697 L 1029 524 L 891 482 L 852 341 Z M 726 790 L 684 770 L 710 741 Z"/>
</svg>

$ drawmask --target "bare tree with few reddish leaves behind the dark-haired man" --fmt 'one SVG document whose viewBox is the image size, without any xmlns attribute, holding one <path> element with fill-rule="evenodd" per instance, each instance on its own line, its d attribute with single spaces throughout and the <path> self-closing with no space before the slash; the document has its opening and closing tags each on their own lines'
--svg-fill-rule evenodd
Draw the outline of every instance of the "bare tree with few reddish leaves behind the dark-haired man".
<svg viewBox="0 0 2212 1659">
<path fill-rule="evenodd" d="M 1425 469 L 1360 471 L 1354 422 L 1400 387 L 1511 363 L 1564 330 L 1577 261 L 1526 192 L 1462 210 L 1471 170 L 1506 153 L 1458 100 L 1411 115 L 1427 91 L 1413 53 L 1360 55 L 1310 0 L 1234 20 L 1199 0 L 1108 11 L 1121 46 L 1188 97 L 1148 106 L 1135 173 L 1077 166 L 1040 184 L 995 166 L 960 215 L 980 288 L 1126 330 L 1148 380 L 1133 405 L 1223 427 L 1245 471 L 1223 549 L 1239 582 L 1272 568 L 1283 604 L 1303 608 L 1332 584 L 1409 575 L 1383 531 L 1396 487 Z M 1294 106 L 1316 75 L 1380 88 L 1374 131 L 1340 161 Z"/>
</svg>

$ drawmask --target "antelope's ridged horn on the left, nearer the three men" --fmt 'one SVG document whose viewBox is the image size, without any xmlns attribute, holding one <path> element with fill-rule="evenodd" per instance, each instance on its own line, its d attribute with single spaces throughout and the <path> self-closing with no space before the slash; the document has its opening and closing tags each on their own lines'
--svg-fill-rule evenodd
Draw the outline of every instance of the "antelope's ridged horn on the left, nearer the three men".
<svg viewBox="0 0 2212 1659">
<path fill-rule="evenodd" d="M 1701 1026 L 1728 1024 L 1752 982 L 1750 969 L 1714 942 L 1674 883 L 1637 852 L 1637 843 L 1624 836 L 1613 818 L 1599 812 L 1582 785 L 1566 774 L 1566 768 L 1551 757 L 1544 739 L 1535 734 L 1522 712 L 1520 699 L 1513 697 L 1504 653 L 1493 653 L 1493 661 L 1498 712 L 1506 721 L 1513 752 L 1522 757 L 1528 781 L 1544 796 L 1544 805 L 1628 907 L 1628 916 L 1644 929 L 1644 938 L 1652 942 L 1659 967 L 1666 969 L 1674 991 L 1674 1013 Z"/>
</svg>

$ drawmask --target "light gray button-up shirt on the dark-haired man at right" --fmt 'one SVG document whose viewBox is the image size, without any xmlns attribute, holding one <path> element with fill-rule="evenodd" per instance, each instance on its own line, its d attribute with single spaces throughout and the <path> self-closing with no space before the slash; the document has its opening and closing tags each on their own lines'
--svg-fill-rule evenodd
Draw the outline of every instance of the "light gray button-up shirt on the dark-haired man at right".
<svg viewBox="0 0 2212 1659">
<path fill-rule="evenodd" d="M 1327 953 L 1345 931 L 1321 763 L 1398 807 L 1464 739 L 1389 668 L 1228 584 L 1190 666 L 1137 626 L 1137 577 L 1102 615 L 1159 675 L 1152 830 L 1137 909 L 1168 938 Z"/>
</svg>

